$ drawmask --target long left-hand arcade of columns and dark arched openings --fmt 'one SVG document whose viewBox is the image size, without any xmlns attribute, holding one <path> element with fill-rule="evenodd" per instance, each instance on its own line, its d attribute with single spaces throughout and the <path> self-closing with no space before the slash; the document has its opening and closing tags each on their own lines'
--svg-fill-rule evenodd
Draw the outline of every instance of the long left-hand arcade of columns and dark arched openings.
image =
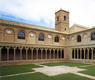
<svg viewBox="0 0 95 80">
<path fill-rule="evenodd" d="M 1 61 L 11 60 L 36 60 L 36 59 L 62 59 L 63 48 L 38 48 L 38 47 L 0 47 Z"/>
</svg>

